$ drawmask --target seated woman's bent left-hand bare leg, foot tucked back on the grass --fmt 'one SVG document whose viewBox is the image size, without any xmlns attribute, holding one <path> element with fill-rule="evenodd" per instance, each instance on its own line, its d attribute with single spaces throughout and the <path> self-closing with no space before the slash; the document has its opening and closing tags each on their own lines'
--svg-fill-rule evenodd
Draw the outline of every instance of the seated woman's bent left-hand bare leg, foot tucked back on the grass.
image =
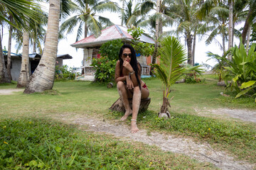
<svg viewBox="0 0 256 170">
<path fill-rule="evenodd" d="M 121 118 L 121 120 L 126 120 L 128 116 L 132 114 L 132 109 L 129 107 L 128 94 L 127 94 L 127 89 L 124 82 L 122 81 L 117 82 L 117 91 L 119 93 L 119 96 L 125 108 L 125 113 L 124 113 L 124 116 Z"/>
</svg>

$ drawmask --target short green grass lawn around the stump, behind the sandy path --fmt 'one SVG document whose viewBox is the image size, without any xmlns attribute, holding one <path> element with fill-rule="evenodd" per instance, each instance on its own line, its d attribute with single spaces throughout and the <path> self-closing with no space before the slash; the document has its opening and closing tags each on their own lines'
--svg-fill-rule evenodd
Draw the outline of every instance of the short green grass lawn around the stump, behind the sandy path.
<svg viewBox="0 0 256 170">
<path fill-rule="evenodd" d="M 206 75 L 206 81 L 201 84 L 174 84 L 170 94 L 174 96 L 170 109 L 172 118 L 159 120 L 156 113 L 159 112 L 162 103 L 161 82 L 159 79 L 144 81 L 149 87 L 151 104 L 149 111 L 139 114 L 139 128 L 188 135 L 195 140 L 206 141 L 215 147 L 225 149 L 238 159 L 256 163 L 255 123 L 221 120 L 216 116 L 200 117 L 195 114 L 195 108 L 202 112 L 223 107 L 256 110 L 252 98 L 234 99 L 232 93 L 229 93 L 230 97 L 220 96 L 220 92 L 224 92 L 225 88 L 216 86 L 217 79 L 212 75 Z M 0 85 L 0 89 L 15 87 L 16 84 Z M 54 118 L 54 122 L 62 115 L 68 115 L 70 118 L 73 115 L 97 115 L 98 118 L 110 120 L 119 119 L 121 116 L 121 113 L 110 113 L 108 110 L 119 97 L 116 88 L 107 89 L 106 85 L 92 84 L 88 81 L 57 81 L 53 89 L 43 94 L 26 95 L 15 92 L 13 95 L 1 96 L 0 120 Z M 146 118 L 142 119 L 144 115 Z M 83 133 L 82 135 L 87 136 Z M 144 158 L 147 159 L 146 157 L 145 155 Z M 201 165 L 198 164 L 198 167 Z M 193 169 L 192 166 L 190 168 Z"/>
</svg>

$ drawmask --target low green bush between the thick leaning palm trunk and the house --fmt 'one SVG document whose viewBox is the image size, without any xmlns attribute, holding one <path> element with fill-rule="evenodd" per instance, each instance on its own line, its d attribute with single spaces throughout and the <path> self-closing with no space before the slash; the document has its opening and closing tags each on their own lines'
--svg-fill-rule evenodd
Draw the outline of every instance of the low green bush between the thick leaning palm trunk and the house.
<svg viewBox="0 0 256 170">
<path fill-rule="evenodd" d="M 56 66 L 55 67 L 55 79 L 75 79 L 75 73 L 73 73 L 73 69 L 68 65 L 63 65 L 63 67 Z"/>
</svg>

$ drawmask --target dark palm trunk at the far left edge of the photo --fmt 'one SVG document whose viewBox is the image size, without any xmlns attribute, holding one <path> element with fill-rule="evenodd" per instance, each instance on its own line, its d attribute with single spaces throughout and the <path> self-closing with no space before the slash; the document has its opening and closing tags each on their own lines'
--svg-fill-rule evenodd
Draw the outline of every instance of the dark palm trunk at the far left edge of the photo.
<svg viewBox="0 0 256 170">
<path fill-rule="evenodd" d="M 1 45 L 1 34 L 0 34 L 0 83 L 11 83 L 11 80 L 8 77 L 6 72 L 6 67 L 4 64 L 4 53 L 3 47 Z"/>
</svg>

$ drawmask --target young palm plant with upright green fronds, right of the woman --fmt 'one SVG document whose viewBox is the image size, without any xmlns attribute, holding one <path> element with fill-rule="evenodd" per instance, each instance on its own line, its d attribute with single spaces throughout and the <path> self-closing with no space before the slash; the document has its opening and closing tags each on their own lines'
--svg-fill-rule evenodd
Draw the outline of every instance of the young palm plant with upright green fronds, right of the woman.
<svg viewBox="0 0 256 170">
<path fill-rule="evenodd" d="M 185 67 L 183 62 L 186 62 L 187 55 L 183 45 L 174 37 L 166 37 L 161 41 L 161 47 L 159 49 L 160 64 L 152 64 L 156 68 L 156 77 L 159 77 L 164 84 L 164 96 L 163 105 L 159 117 L 169 117 L 168 106 L 169 94 L 171 93 L 171 85 L 173 85 L 178 79 L 184 74 L 191 72 L 198 72 L 201 74 L 203 69 L 201 66 L 196 67 Z"/>
</svg>

